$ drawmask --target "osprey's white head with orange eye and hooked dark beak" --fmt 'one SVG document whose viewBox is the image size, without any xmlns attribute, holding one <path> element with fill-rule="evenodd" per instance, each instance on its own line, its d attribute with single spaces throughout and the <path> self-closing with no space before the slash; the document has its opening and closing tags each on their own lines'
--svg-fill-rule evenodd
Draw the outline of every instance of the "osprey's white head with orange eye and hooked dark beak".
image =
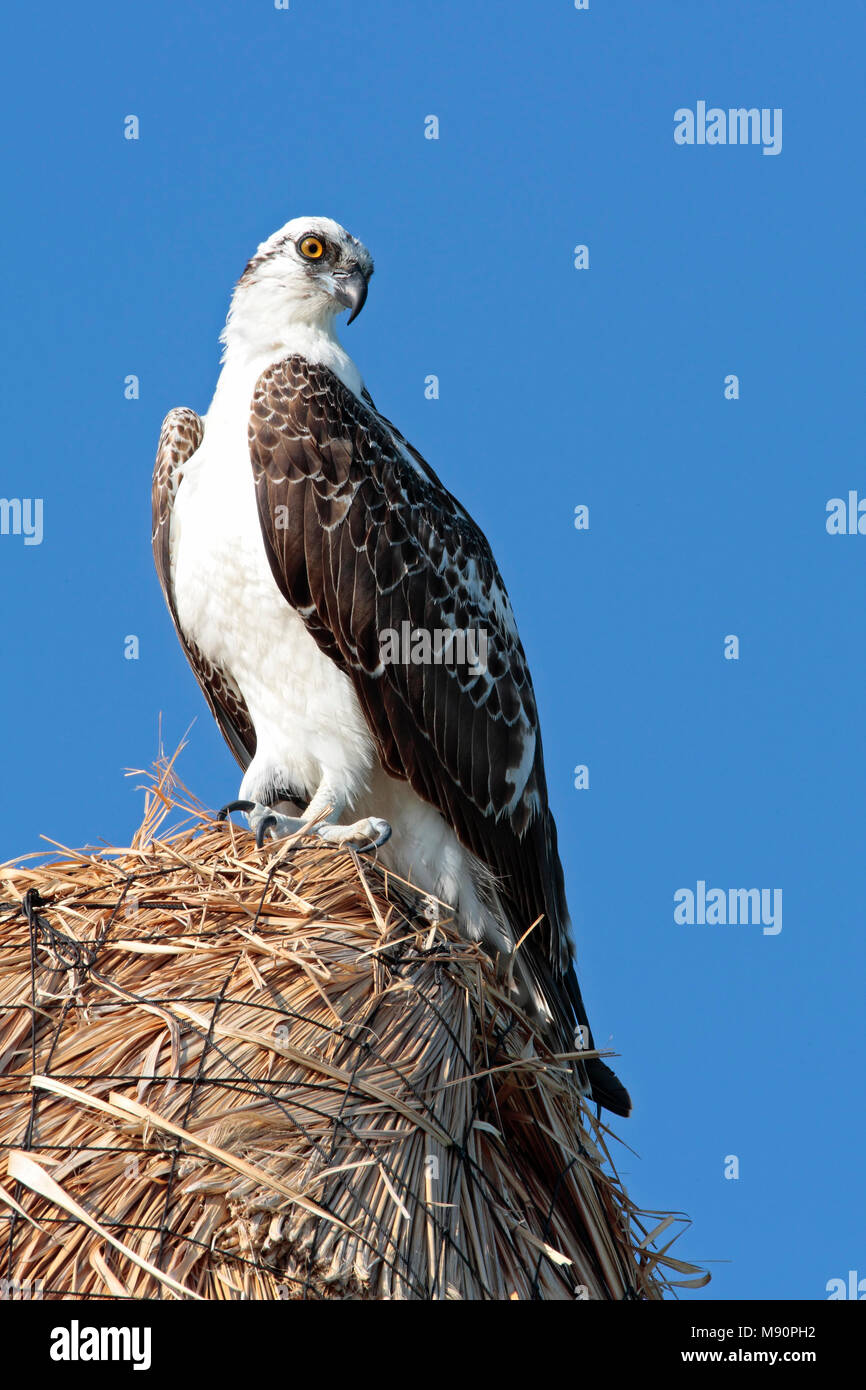
<svg viewBox="0 0 866 1390">
<path fill-rule="evenodd" d="M 366 246 L 329 217 L 295 217 L 263 242 L 235 286 L 227 350 L 291 348 L 297 336 L 335 341 L 334 320 L 360 314 L 373 275 Z"/>
</svg>

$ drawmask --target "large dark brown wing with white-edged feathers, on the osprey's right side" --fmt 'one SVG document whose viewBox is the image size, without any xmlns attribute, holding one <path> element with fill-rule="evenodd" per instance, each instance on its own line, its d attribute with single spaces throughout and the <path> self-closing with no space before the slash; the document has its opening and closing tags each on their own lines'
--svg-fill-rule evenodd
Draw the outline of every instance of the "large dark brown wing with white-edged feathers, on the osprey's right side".
<svg viewBox="0 0 866 1390">
<path fill-rule="evenodd" d="M 567 909 L 535 698 L 485 537 L 370 398 L 303 357 L 259 379 L 250 456 L 274 578 L 350 677 L 384 767 L 493 872 L 518 935 L 542 919 L 531 945 L 562 977 Z M 381 634 L 405 621 L 485 632 L 487 670 L 382 664 Z"/>
</svg>

